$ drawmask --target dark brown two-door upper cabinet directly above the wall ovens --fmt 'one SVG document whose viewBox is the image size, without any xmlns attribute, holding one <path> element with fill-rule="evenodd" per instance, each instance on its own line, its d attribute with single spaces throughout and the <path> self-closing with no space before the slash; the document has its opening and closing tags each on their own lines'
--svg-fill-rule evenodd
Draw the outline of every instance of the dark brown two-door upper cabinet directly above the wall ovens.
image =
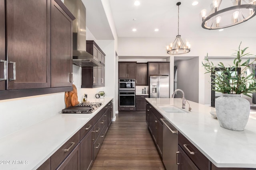
<svg viewBox="0 0 256 170">
<path fill-rule="evenodd" d="M 119 78 L 136 78 L 136 62 L 118 62 Z"/>
</svg>

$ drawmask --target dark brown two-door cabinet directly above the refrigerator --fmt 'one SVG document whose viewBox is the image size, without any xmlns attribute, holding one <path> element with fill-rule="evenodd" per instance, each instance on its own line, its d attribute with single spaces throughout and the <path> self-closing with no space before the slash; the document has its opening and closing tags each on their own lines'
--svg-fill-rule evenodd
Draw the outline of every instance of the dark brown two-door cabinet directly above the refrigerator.
<svg viewBox="0 0 256 170">
<path fill-rule="evenodd" d="M 149 76 L 168 76 L 170 72 L 170 62 L 149 62 Z"/>
</svg>

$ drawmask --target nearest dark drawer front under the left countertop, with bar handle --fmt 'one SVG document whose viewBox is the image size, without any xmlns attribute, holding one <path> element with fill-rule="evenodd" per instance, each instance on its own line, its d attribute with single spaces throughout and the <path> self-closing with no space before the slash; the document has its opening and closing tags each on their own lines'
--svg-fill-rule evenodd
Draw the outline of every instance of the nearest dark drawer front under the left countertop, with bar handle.
<svg viewBox="0 0 256 170">
<path fill-rule="evenodd" d="M 56 169 L 80 141 L 79 131 L 51 156 L 51 169 Z"/>
</svg>

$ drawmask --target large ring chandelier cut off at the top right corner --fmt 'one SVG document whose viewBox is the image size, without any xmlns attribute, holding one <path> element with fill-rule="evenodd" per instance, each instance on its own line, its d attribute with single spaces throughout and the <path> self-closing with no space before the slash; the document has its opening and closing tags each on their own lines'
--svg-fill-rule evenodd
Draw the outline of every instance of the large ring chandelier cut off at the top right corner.
<svg viewBox="0 0 256 170">
<path fill-rule="evenodd" d="M 251 2 L 248 2 L 251 1 Z M 204 29 L 222 29 L 250 20 L 256 15 L 256 0 L 213 0 L 211 12 L 201 11 Z M 222 22 L 220 22 L 222 20 Z"/>
</svg>

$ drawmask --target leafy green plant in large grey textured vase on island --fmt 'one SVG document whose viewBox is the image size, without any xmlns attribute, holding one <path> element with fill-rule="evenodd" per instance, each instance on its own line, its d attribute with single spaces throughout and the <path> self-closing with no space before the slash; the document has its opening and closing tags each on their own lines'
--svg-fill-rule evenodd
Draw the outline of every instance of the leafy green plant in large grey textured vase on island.
<svg viewBox="0 0 256 170">
<path fill-rule="evenodd" d="M 255 71 L 250 69 L 250 64 L 255 63 L 256 59 L 252 62 L 250 58 L 242 61 L 242 57 L 250 53 L 245 53 L 248 47 L 241 50 L 240 45 L 238 50 L 235 50 L 236 53 L 232 55 L 236 57 L 233 66 L 224 66 L 222 62 L 214 65 L 209 61 L 208 54 L 204 59 L 205 63 L 202 63 L 206 70 L 205 73 L 215 71 L 215 74 L 211 75 L 212 90 L 222 93 L 222 96 L 215 100 L 219 124 L 221 127 L 235 131 L 244 130 L 250 114 L 250 102 L 242 98 L 242 94 L 252 97 L 249 94 L 256 90 Z M 250 74 L 248 74 L 248 69 L 252 70 Z"/>
</svg>

